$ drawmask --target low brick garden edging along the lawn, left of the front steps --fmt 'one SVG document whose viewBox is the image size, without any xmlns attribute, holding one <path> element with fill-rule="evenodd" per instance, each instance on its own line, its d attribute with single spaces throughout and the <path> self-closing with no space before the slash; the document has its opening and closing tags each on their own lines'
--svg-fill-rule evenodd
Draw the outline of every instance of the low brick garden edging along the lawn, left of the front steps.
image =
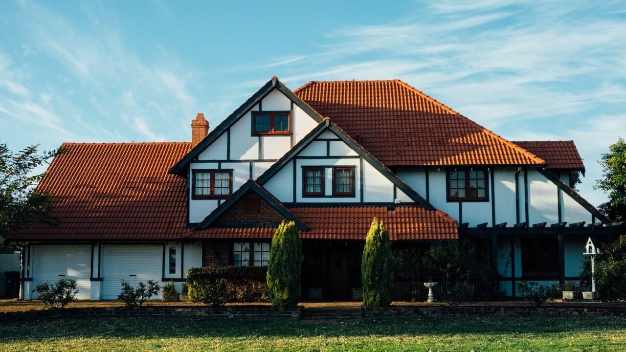
<svg viewBox="0 0 626 352">
<path fill-rule="evenodd" d="M 0 313 L 0 322 L 66 316 L 271 316 L 300 319 L 302 307 L 274 308 L 271 306 L 145 306 L 138 308 L 63 308 Z"/>
</svg>

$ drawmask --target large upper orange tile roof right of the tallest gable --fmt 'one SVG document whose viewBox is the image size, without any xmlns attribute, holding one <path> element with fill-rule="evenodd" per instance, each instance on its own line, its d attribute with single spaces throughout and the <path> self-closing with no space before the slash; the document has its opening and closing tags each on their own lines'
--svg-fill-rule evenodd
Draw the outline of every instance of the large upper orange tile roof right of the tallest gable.
<svg viewBox="0 0 626 352">
<path fill-rule="evenodd" d="M 543 163 L 400 80 L 311 81 L 294 94 L 387 167 Z"/>
</svg>

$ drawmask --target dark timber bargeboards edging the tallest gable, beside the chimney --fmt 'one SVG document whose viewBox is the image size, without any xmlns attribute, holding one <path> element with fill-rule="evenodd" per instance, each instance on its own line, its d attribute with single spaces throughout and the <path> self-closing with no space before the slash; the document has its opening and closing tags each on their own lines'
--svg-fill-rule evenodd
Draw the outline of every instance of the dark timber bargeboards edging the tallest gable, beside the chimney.
<svg viewBox="0 0 626 352">
<path fill-rule="evenodd" d="M 248 111 L 250 111 L 257 103 L 259 104 L 259 110 L 261 110 L 260 103 L 262 99 L 270 93 L 270 91 L 277 89 L 281 93 L 283 93 L 287 98 L 295 103 L 295 105 L 299 106 L 300 109 L 304 110 L 311 118 L 316 120 L 316 122 L 322 122 L 324 118 L 317 113 L 317 111 L 313 110 L 307 103 L 300 100 L 289 88 L 283 85 L 277 77 L 272 77 L 264 86 L 262 86 L 254 95 L 250 96 L 248 100 L 245 101 L 244 104 L 239 106 L 237 110 L 233 111 L 222 123 L 217 125 L 217 127 L 207 135 L 200 143 L 198 143 L 195 147 L 190 150 L 185 157 L 180 159 L 172 168 L 170 168 L 170 173 L 177 173 L 178 175 L 182 175 L 182 171 L 184 170 L 185 165 L 192 162 L 194 158 L 197 158 L 198 155 L 205 150 L 211 143 L 213 143 L 217 138 L 219 138 L 223 133 L 230 129 L 230 127 L 237 122 L 242 116 L 245 115 Z M 260 137 L 259 137 L 260 138 Z M 260 140 L 259 140 L 260 142 Z M 260 145 L 260 143 L 259 143 Z"/>
</svg>

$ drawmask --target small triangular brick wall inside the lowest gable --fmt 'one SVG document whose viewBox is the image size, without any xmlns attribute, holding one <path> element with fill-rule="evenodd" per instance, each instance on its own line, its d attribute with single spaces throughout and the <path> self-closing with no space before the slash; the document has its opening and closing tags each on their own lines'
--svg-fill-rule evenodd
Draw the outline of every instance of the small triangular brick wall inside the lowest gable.
<svg viewBox="0 0 626 352">
<path fill-rule="evenodd" d="M 244 194 L 217 220 L 217 224 L 245 222 L 259 225 L 280 224 L 285 218 L 254 191 Z"/>
</svg>

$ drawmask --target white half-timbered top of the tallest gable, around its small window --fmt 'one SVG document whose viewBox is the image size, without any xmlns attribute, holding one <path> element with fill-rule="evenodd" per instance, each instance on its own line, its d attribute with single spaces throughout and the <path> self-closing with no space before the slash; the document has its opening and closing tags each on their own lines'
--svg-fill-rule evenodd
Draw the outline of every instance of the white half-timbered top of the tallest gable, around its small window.
<svg viewBox="0 0 626 352">
<path fill-rule="evenodd" d="M 292 133 L 253 136 L 252 111 L 272 110 L 289 111 Z M 169 172 L 183 175 L 188 163 L 199 157 L 211 158 L 208 160 L 275 160 L 321 121 L 322 117 L 315 110 L 273 77 L 178 160 Z"/>
</svg>

